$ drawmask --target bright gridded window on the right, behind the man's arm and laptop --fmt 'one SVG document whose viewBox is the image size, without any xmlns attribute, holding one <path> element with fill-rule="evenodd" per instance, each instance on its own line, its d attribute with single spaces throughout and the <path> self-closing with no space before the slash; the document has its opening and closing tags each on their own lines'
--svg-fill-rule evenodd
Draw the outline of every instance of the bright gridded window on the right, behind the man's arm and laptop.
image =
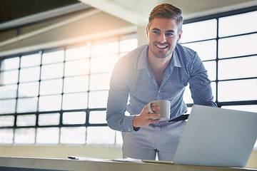
<svg viewBox="0 0 257 171">
<path fill-rule="evenodd" d="M 183 24 L 181 44 L 198 52 L 218 107 L 257 113 L 256 26 L 256 8 Z M 193 100 L 188 87 L 184 99 L 190 111 Z"/>
</svg>

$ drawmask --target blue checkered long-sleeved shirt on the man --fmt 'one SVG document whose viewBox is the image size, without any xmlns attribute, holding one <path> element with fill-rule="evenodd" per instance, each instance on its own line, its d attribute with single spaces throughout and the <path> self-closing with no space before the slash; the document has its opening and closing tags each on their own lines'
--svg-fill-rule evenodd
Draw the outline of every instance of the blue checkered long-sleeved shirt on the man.
<svg viewBox="0 0 257 171">
<path fill-rule="evenodd" d="M 216 107 L 211 81 L 198 54 L 177 43 L 166 68 L 161 86 L 148 66 L 148 45 L 143 45 L 121 58 L 111 76 L 106 120 L 110 128 L 131 132 L 133 118 L 152 100 L 170 100 L 170 119 L 186 113 L 183 93 L 190 85 L 193 103 Z M 129 99 L 129 103 L 128 103 Z M 130 115 L 125 115 L 126 110 Z M 154 123 L 161 125 L 162 121 Z"/>
</svg>

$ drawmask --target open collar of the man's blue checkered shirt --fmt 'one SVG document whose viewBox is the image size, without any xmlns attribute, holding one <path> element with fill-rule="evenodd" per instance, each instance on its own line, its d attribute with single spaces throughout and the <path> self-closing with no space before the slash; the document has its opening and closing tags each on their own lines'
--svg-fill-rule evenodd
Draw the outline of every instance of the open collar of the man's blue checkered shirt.
<svg viewBox="0 0 257 171">
<path fill-rule="evenodd" d="M 148 48 L 149 48 L 149 46 L 146 46 L 143 49 L 141 55 L 139 56 L 139 59 L 138 59 L 138 69 L 148 68 Z M 176 48 L 173 51 L 171 62 L 168 65 L 168 67 L 173 68 L 173 66 L 181 67 L 181 63 L 179 61 L 178 53 L 176 51 Z"/>
</svg>

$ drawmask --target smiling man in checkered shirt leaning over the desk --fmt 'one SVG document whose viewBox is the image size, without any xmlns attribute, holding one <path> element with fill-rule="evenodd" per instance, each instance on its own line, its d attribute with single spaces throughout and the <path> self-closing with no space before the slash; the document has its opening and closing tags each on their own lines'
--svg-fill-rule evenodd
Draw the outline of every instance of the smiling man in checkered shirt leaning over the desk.
<svg viewBox="0 0 257 171">
<path fill-rule="evenodd" d="M 142 160 L 173 160 L 185 120 L 172 121 L 186 113 L 183 93 L 190 84 L 193 103 L 216 107 L 206 69 L 195 51 L 179 45 L 182 11 L 171 4 L 156 6 L 149 15 L 148 44 L 121 58 L 111 76 L 106 120 L 122 132 L 123 157 Z M 129 98 L 129 104 L 127 101 Z M 171 102 L 170 120 L 160 121 L 147 104 Z M 153 111 L 160 107 L 153 104 Z M 130 115 L 125 115 L 125 111 Z"/>
</svg>

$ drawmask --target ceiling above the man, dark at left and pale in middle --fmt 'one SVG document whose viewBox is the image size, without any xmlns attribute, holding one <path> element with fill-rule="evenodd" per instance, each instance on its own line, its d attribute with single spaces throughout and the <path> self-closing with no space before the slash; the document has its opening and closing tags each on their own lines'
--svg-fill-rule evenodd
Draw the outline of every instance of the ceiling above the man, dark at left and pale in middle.
<svg viewBox="0 0 257 171">
<path fill-rule="evenodd" d="M 162 3 L 178 6 L 186 19 L 257 6 L 257 0 L 1 0 L 0 30 L 89 8 L 140 26 L 147 21 L 151 9 Z"/>
</svg>

